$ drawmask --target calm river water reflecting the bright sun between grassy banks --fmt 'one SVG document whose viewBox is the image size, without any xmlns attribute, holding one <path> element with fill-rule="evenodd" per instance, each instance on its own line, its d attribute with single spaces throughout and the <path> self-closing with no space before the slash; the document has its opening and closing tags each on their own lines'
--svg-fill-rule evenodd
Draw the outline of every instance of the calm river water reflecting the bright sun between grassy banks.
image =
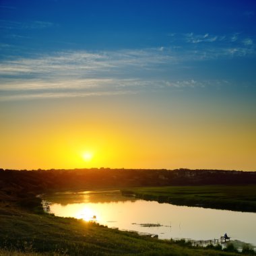
<svg viewBox="0 0 256 256">
<path fill-rule="evenodd" d="M 55 193 L 44 200 L 51 202 L 50 212 L 56 216 L 92 220 L 109 228 L 158 234 L 160 239 L 212 240 L 226 232 L 232 240 L 256 246 L 255 213 L 145 201 L 123 197 L 120 191 Z"/>
</svg>

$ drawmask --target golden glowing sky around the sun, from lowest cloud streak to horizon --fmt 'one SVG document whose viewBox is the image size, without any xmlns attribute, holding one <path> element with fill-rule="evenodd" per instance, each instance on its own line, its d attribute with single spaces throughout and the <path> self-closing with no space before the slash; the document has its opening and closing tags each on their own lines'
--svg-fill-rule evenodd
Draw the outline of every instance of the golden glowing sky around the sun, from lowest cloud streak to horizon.
<svg viewBox="0 0 256 256">
<path fill-rule="evenodd" d="M 255 119 L 236 98 L 152 96 L 2 102 L 1 167 L 254 170 Z"/>
</svg>

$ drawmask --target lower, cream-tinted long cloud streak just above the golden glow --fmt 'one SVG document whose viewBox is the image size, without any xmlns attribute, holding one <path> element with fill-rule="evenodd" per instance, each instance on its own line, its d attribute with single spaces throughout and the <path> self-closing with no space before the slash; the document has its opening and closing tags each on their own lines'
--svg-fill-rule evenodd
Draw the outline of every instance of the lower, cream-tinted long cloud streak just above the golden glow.
<svg viewBox="0 0 256 256">
<path fill-rule="evenodd" d="M 42 81 L 32 79 L 24 82 L 15 80 L 5 82 L 0 87 L 0 101 L 26 100 L 40 98 L 74 98 L 86 96 L 113 96 L 138 94 L 160 90 L 188 90 L 216 87 L 224 81 L 197 81 L 194 79 L 168 81 L 146 79 L 59 79 Z"/>
</svg>

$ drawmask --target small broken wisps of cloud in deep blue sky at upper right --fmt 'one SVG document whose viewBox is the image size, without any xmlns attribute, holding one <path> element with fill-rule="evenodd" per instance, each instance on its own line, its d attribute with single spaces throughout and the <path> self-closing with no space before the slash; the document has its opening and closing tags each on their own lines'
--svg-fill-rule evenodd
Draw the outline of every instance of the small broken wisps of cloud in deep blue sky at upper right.
<svg viewBox="0 0 256 256">
<path fill-rule="evenodd" d="M 172 50 L 183 61 L 255 57 L 255 36 L 233 34 L 168 34 Z M 180 52 L 179 52 L 180 49 Z"/>
</svg>

